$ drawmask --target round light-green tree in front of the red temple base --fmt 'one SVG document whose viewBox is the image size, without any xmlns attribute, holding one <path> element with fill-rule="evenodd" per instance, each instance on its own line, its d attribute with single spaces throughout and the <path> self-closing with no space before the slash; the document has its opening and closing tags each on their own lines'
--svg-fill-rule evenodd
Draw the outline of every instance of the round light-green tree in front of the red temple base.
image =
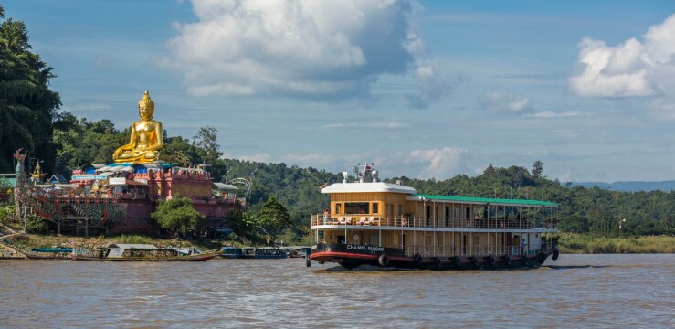
<svg viewBox="0 0 675 329">
<path fill-rule="evenodd" d="M 204 214 L 195 210 L 188 197 L 173 197 L 160 201 L 150 215 L 160 227 L 172 233 L 187 235 L 202 228 L 206 220 Z"/>
</svg>

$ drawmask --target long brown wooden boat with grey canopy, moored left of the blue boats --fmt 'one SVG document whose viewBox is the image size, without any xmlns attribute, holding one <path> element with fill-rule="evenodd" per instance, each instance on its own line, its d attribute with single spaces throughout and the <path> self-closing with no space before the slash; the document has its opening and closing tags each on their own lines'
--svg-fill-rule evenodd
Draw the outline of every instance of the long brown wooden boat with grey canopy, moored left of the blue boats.
<svg viewBox="0 0 675 329">
<path fill-rule="evenodd" d="M 200 252 L 197 249 L 157 248 L 153 245 L 112 245 L 93 251 L 74 250 L 77 261 L 206 261 L 222 253 L 221 249 Z"/>
</svg>

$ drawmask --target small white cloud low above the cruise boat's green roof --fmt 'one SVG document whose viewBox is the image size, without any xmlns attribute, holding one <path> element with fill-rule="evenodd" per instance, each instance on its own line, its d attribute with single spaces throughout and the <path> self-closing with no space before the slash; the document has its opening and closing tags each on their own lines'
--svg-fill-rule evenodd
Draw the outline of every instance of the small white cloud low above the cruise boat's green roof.
<svg viewBox="0 0 675 329">
<path fill-rule="evenodd" d="M 421 178 L 446 178 L 459 173 L 468 172 L 469 152 L 457 147 L 443 147 L 441 149 L 415 150 L 406 156 L 406 163 L 419 163 L 422 171 Z"/>
</svg>

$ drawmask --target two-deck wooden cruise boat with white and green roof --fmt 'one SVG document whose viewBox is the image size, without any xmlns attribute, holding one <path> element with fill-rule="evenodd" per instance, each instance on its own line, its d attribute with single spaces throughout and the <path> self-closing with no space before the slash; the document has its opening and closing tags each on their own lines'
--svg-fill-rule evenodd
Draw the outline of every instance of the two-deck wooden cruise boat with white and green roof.
<svg viewBox="0 0 675 329">
<path fill-rule="evenodd" d="M 330 209 L 311 217 L 311 260 L 408 269 L 536 268 L 558 249 L 558 205 L 530 199 L 430 196 L 378 181 L 359 165 L 356 182 L 322 188 Z M 366 179 L 368 181 L 366 181 Z"/>
</svg>

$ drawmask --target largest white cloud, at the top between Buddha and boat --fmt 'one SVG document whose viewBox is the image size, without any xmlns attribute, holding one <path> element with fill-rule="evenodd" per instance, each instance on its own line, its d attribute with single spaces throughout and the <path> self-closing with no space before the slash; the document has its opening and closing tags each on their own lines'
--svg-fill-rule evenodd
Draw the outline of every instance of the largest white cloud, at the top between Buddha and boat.
<svg viewBox="0 0 675 329">
<path fill-rule="evenodd" d="M 163 60 L 193 95 L 370 96 L 423 48 L 412 0 L 193 1 Z"/>
</svg>

